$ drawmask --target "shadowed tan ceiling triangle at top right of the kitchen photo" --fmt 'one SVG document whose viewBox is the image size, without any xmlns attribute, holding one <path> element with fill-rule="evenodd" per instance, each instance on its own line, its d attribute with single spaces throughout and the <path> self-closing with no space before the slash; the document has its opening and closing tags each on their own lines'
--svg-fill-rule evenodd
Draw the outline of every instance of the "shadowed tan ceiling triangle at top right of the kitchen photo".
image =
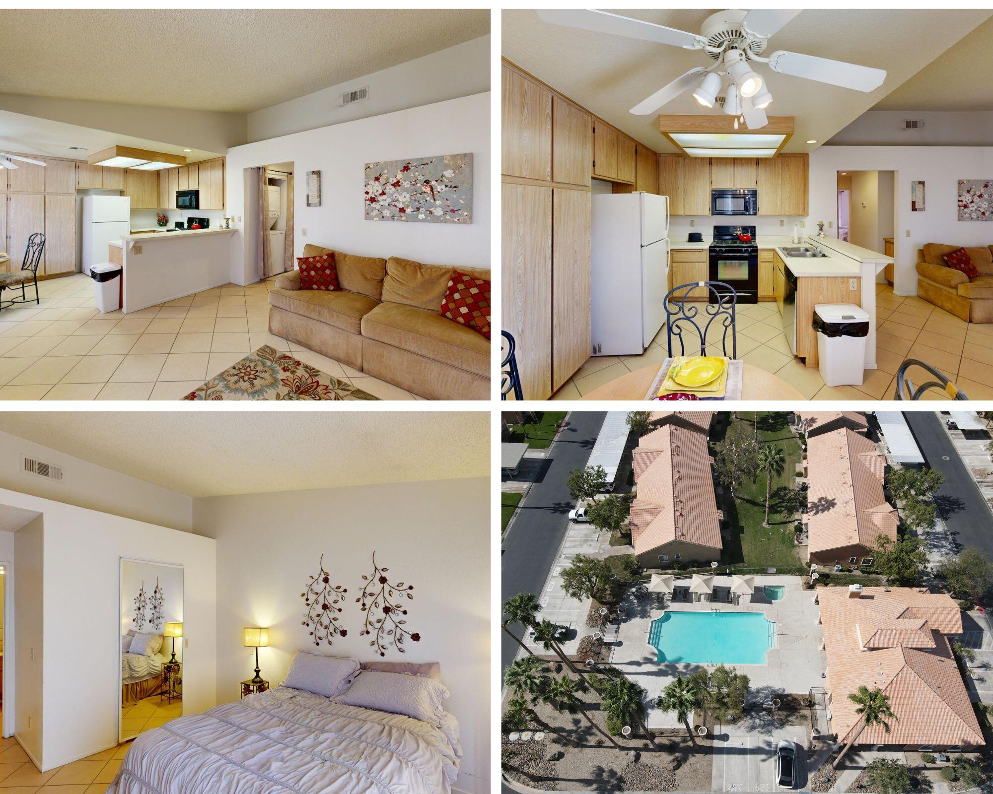
<svg viewBox="0 0 993 794">
<path fill-rule="evenodd" d="M 993 110 L 993 17 L 873 110 Z"/>
</svg>

